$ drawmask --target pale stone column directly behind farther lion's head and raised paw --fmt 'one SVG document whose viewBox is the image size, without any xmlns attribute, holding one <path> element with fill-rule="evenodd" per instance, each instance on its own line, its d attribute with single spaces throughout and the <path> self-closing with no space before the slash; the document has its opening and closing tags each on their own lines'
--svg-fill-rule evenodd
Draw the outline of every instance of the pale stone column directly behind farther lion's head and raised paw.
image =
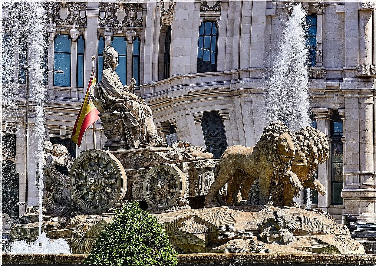
<svg viewBox="0 0 376 266">
<path fill-rule="evenodd" d="M 316 118 L 317 129 L 323 132 L 328 141 L 329 148 L 331 148 L 331 116 L 333 111 L 327 108 L 312 108 L 312 112 Z M 328 211 L 331 198 L 331 160 L 326 160 L 325 163 L 318 165 L 318 180 L 325 186 L 326 195 L 318 195 L 318 208 Z"/>
</svg>

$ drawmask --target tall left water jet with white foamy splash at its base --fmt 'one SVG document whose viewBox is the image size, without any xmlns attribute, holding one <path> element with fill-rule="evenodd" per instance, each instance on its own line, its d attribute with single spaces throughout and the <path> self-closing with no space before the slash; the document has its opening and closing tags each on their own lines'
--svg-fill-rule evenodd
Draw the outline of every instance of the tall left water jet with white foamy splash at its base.
<svg viewBox="0 0 376 266">
<path fill-rule="evenodd" d="M 44 56 L 43 45 L 44 45 L 44 35 L 45 35 L 45 28 L 44 28 L 44 20 L 45 10 L 44 10 L 44 3 L 39 1 L 34 2 L 11 2 L 9 3 L 9 11 L 12 12 L 12 15 L 16 16 L 16 19 L 20 23 L 25 23 L 27 26 L 27 39 L 28 39 L 28 55 L 29 58 L 29 88 L 32 92 L 33 96 L 35 97 L 35 110 L 36 110 L 36 117 L 35 117 L 35 130 L 36 130 L 36 139 L 38 143 L 38 148 L 35 152 L 35 156 L 38 162 L 42 162 L 44 157 L 44 152 L 42 149 L 42 142 L 44 139 L 45 133 L 45 117 L 44 117 L 44 86 L 43 77 L 44 73 L 41 70 L 42 59 Z M 22 21 L 23 20 L 23 21 Z M 9 21 L 10 22 L 10 21 Z M 13 40 L 14 42 L 14 40 Z M 9 42 L 11 45 L 11 42 Z M 12 45 L 12 50 L 13 50 Z M 9 62 L 5 59 L 6 63 L 10 66 L 13 66 L 14 62 Z M 12 72 L 12 70 L 10 71 Z M 9 82 L 11 83 L 11 82 Z M 14 81 L 13 81 L 14 83 Z M 12 87 L 12 86 L 10 86 Z M 12 92 L 8 92 L 10 98 L 15 98 Z M 29 144 L 26 144 L 29 145 Z M 27 162 L 26 162 L 27 163 Z M 29 173 L 30 174 L 30 173 Z M 59 239 L 55 241 L 51 241 L 47 239 L 47 235 L 45 233 L 42 234 L 42 201 L 43 201 L 43 164 L 38 163 L 38 170 L 37 170 L 37 177 L 38 177 L 38 187 L 39 187 L 39 237 L 38 239 L 30 243 L 29 245 L 24 241 L 18 241 L 12 244 L 11 252 L 17 253 L 69 253 L 70 248 L 67 245 L 65 240 Z M 39 249 L 36 248 L 36 243 L 38 246 L 41 246 Z"/>
</svg>

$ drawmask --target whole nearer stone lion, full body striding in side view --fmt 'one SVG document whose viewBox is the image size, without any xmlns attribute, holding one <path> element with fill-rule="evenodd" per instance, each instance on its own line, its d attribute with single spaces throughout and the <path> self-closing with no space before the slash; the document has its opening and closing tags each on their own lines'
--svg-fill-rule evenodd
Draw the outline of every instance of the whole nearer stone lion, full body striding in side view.
<svg viewBox="0 0 376 266">
<path fill-rule="evenodd" d="M 219 206 L 215 197 L 218 191 L 232 178 L 230 191 L 234 205 L 246 202 L 240 189 L 250 189 L 259 178 L 259 204 L 273 205 L 269 197 L 270 183 L 288 183 L 294 190 L 302 184 L 293 172 L 289 171 L 295 154 L 295 136 L 283 122 L 271 122 L 264 128 L 260 140 L 254 147 L 234 145 L 227 148 L 218 161 L 214 182 L 205 197 L 204 207 Z M 242 189 L 243 190 L 243 189 Z M 236 199 L 236 200 L 235 200 Z"/>
</svg>

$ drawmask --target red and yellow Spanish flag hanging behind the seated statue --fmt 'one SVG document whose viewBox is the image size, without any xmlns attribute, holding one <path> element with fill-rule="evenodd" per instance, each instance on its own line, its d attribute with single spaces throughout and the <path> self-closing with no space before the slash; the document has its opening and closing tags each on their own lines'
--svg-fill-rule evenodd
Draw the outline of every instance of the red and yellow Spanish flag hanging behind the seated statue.
<svg viewBox="0 0 376 266">
<path fill-rule="evenodd" d="M 96 83 L 94 67 L 91 72 L 91 77 L 89 81 L 88 89 L 86 90 L 85 98 L 83 99 L 83 103 L 78 113 L 76 123 L 74 123 L 74 128 L 72 132 L 72 141 L 81 146 L 82 136 L 85 133 L 85 130 L 88 129 L 92 124 L 94 124 L 97 120 L 99 120 L 99 111 L 94 106 L 91 97 L 89 95 L 89 88 L 92 84 Z"/>
</svg>

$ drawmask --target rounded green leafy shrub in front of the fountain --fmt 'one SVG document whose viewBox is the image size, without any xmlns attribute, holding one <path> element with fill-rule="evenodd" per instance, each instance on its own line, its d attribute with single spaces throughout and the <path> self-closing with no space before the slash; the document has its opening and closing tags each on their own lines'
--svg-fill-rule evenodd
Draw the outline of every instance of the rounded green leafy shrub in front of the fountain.
<svg viewBox="0 0 376 266">
<path fill-rule="evenodd" d="M 138 201 L 117 210 L 85 260 L 89 265 L 175 266 L 177 253 L 158 220 Z"/>
</svg>

